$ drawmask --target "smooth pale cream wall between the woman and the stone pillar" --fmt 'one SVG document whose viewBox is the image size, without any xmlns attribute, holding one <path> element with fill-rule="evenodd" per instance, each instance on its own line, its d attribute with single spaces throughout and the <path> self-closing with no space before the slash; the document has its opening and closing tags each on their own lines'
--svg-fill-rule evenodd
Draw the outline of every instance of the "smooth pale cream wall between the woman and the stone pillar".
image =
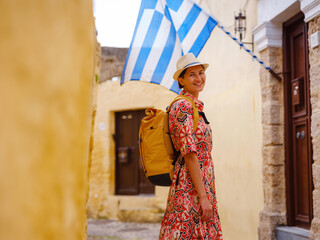
<svg viewBox="0 0 320 240">
<path fill-rule="evenodd" d="M 234 13 L 246 1 L 203 1 L 234 34 Z M 208 5 L 208 3 L 210 5 Z M 256 1 L 246 9 L 247 34 L 256 25 Z M 229 26 L 229 27 L 228 27 Z M 251 49 L 250 45 L 247 45 Z M 201 94 L 213 129 L 218 207 L 224 239 L 258 239 L 263 208 L 260 64 L 216 27 L 199 58 L 211 64 Z"/>
</svg>

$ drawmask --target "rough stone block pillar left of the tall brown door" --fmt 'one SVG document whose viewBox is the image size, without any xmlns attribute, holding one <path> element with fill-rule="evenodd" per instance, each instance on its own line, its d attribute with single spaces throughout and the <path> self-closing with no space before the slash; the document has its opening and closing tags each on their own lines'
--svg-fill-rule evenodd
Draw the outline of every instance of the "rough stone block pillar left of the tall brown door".
<svg viewBox="0 0 320 240">
<path fill-rule="evenodd" d="M 282 72 L 282 49 L 269 47 L 261 59 Z M 263 129 L 264 209 L 260 212 L 259 239 L 275 239 L 275 227 L 286 224 L 283 86 L 264 68 L 260 70 Z"/>
</svg>

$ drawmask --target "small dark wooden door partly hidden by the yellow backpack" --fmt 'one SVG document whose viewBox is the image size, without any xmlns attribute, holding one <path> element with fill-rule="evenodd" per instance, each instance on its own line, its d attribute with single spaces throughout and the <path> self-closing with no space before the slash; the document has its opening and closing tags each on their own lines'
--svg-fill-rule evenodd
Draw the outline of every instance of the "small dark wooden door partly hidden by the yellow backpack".
<svg viewBox="0 0 320 240">
<path fill-rule="evenodd" d="M 154 193 L 140 161 L 139 127 L 144 116 L 144 110 L 116 113 L 116 194 Z"/>
</svg>

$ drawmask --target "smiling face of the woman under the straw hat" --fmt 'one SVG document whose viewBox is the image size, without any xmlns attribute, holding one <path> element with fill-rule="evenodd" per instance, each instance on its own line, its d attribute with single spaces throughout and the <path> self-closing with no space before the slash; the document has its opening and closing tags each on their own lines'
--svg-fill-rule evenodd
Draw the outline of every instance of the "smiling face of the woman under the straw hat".
<svg viewBox="0 0 320 240">
<path fill-rule="evenodd" d="M 183 89 L 198 98 L 206 83 L 206 74 L 202 65 L 189 67 L 183 78 L 178 78 Z"/>
</svg>

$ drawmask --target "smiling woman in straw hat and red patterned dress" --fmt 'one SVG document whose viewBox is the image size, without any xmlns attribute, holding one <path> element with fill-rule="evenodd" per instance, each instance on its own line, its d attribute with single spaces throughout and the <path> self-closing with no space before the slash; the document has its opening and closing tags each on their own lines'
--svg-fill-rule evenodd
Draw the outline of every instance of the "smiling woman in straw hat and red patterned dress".
<svg viewBox="0 0 320 240">
<path fill-rule="evenodd" d="M 161 240 L 222 239 L 211 158 L 212 131 L 204 114 L 201 114 L 204 105 L 198 100 L 206 82 L 205 70 L 208 66 L 188 53 L 178 60 L 177 71 L 173 75 L 179 87 L 183 88 L 180 94 L 188 96 L 197 106 L 199 123 L 194 131 L 190 102 L 178 100 L 172 105 L 169 129 L 180 155 L 161 223 Z"/>
</svg>

